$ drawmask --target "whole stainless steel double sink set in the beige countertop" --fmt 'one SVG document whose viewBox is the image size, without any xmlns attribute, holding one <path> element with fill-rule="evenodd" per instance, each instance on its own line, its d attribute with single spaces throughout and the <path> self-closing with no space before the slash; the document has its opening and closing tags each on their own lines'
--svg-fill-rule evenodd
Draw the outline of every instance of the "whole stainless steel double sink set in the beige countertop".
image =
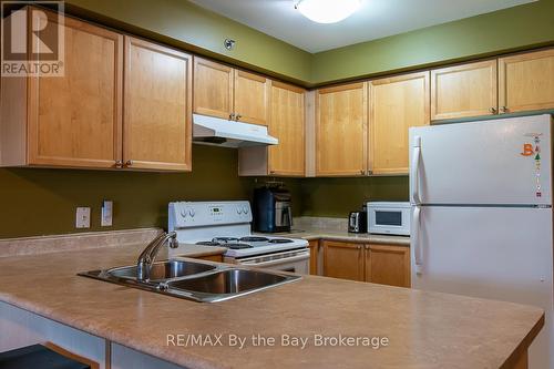
<svg viewBox="0 0 554 369">
<path fill-rule="evenodd" d="M 150 279 L 136 278 L 136 265 L 79 273 L 123 286 L 198 303 L 216 303 L 300 279 L 300 276 L 175 258 L 152 264 Z"/>
</svg>

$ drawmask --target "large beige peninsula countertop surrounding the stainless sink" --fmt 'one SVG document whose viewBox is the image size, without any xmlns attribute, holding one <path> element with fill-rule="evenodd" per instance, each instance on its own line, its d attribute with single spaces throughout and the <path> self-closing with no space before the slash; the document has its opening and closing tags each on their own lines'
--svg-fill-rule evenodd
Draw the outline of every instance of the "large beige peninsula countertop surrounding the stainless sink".
<svg viewBox="0 0 554 369">
<path fill-rule="evenodd" d="M 544 324 L 530 306 L 316 276 L 198 304 L 75 275 L 133 264 L 143 247 L 0 258 L 0 300 L 189 368 L 507 368 Z M 166 344 L 167 335 L 188 334 L 223 335 L 223 346 Z M 247 344 L 229 346 L 229 335 Z M 253 335 L 276 344 L 254 346 Z M 281 335 L 307 347 L 281 345 Z M 315 335 L 388 345 L 316 347 Z"/>
</svg>

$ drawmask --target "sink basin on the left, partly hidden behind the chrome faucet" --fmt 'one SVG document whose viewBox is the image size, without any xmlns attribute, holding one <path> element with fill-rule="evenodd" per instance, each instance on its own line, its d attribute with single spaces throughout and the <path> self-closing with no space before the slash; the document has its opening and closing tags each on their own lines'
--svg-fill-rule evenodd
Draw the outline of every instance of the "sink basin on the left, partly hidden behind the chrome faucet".
<svg viewBox="0 0 554 369">
<path fill-rule="evenodd" d="M 199 273 L 205 273 L 208 270 L 214 270 L 215 265 L 185 262 L 185 260 L 166 260 L 154 263 L 150 273 L 151 281 L 160 281 L 166 279 L 173 279 L 178 277 L 185 277 L 191 275 L 196 275 Z M 122 279 L 136 279 L 136 265 L 113 268 L 106 271 L 107 275 L 115 278 Z"/>
</svg>

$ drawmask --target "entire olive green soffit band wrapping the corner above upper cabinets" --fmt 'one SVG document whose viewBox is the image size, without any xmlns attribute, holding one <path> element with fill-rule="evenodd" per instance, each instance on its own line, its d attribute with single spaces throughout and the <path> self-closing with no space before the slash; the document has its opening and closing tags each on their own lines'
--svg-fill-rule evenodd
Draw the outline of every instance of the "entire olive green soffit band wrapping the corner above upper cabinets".
<svg viewBox="0 0 554 369">
<path fill-rule="evenodd" d="M 66 4 L 70 13 L 308 86 L 554 43 L 554 0 L 316 54 L 186 0 L 68 0 Z M 225 38 L 237 41 L 235 50 L 223 47 Z"/>
</svg>

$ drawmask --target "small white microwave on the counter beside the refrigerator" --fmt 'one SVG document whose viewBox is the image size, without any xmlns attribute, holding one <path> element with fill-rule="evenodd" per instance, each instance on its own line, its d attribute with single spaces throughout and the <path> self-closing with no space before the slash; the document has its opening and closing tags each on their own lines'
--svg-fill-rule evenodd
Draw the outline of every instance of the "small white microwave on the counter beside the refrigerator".
<svg viewBox="0 0 554 369">
<path fill-rule="evenodd" d="M 368 232 L 381 235 L 410 235 L 411 205 L 406 202 L 369 202 Z"/>
</svg>

